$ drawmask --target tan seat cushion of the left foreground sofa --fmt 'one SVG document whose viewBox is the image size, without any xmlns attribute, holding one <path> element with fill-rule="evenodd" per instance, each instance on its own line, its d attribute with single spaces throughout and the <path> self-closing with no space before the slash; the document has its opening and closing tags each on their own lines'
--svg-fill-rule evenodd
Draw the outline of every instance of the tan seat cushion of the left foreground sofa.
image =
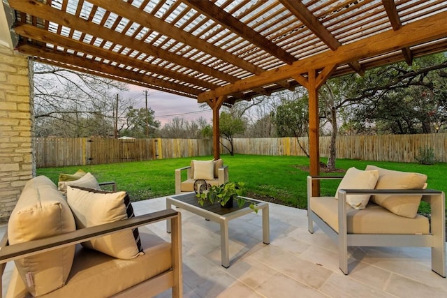
<svg viewBox="0 0 447 298">
<path fill-rule="evenodd" d="M 130 260 L 112 258 L 78 245 L 66 285 L 42 297 L 110 297 L 170 269 L 170 243 L 147 228 L 140 228 L 140 235 L 145 254 Z M 26 297 L 26 292 L 14 270 L 6 297 Z"/>
</svg>

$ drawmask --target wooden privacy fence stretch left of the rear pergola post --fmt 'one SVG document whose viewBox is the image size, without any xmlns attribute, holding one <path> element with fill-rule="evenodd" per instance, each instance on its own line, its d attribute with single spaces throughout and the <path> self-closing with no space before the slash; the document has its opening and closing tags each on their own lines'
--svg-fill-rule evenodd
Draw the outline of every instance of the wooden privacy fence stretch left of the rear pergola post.
<svg viewBox="0 0 447 298">
<path fill-rule="evenodd" d="M 212 155 L 212 140 L 37 137 L 35 143 L 36 167 Z"/>
</svg>

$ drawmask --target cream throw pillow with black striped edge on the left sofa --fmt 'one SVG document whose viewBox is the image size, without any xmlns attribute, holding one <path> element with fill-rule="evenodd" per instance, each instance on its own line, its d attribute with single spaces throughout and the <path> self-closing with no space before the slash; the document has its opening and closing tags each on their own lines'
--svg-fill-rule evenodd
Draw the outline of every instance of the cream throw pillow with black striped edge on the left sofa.
<svg viewBox="0 0 447 298">
<path fill-rule="evenodd" d="M 109 192 L 77 186 L 67 187 L 67 202 L 78 229 L 113 223 L 135 216 L 125 191 Z M 115 258 L 132 259 L 142 254 L 138 229 L 124 230 L 83 242 L 82 246 Z"/>
</svg>

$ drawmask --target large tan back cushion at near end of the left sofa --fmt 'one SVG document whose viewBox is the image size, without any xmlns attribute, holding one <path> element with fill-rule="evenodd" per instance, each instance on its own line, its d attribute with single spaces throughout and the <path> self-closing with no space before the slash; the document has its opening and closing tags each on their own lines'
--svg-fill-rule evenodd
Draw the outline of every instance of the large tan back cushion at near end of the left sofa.
<svg viewBox="0 0 447 298">
<path fill-rule="evenodd" d="M 10 244 L 19 244 L 76 230 L 70 207 L 56 185 L 45 176 L 25 184 L 8 221 Z M 44 295 L 64 285 L 73 264 L 75 246 L 15 261 L 27 290 Z"/>
</svg>

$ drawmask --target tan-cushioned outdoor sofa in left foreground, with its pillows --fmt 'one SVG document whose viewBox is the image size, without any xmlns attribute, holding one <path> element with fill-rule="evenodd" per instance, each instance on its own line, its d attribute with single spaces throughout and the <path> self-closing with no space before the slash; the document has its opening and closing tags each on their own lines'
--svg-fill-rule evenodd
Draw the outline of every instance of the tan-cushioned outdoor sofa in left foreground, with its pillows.
<svg viewBox="0 0 447 298">
<path fill-rule="evenodd" d="M 135 298 L 170 288 L 182 297 L 181 214 L 130 216 L 127 199 L 78 186 L 68 186 L 65 198 L 47 177 L 29 180 L 0 243 L 2 275 L 15 261 L 6 297 Z M 170 221 L 170 242 L 143 227 L 158 221 Z"/>
</svg>

